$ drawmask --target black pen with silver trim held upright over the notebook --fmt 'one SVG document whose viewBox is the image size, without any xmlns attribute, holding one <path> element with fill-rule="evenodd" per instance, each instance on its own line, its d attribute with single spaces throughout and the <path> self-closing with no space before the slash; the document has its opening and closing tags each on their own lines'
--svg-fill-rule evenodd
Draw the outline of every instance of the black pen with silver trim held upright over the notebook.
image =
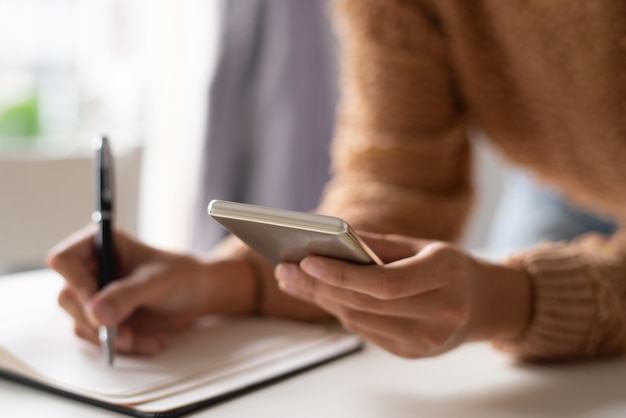
<svg viewBox="0 0 626 418">
<path fill-rule="evenodd" d="M 94 194 L 96 208 L 92 214 L 92 219 L 98 224 L 98 232 L 95 236 L 98 255 L 98 289 L 103 289 L 117 278 L 113 242 L 113 159 L 111 146 L 106 136 L 97 139 L 95 149 Z M 109 366 L 113 366 L 117 327 L 100 327 L 98 338 L 105 361 Z"/>
</svg>

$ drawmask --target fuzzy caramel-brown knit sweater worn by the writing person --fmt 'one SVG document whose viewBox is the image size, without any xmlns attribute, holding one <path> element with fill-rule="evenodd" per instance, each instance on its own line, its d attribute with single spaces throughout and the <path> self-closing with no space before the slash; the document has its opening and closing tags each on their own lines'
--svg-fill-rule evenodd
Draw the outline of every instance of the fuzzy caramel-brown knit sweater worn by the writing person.
<svg viewBox="0 0 626 418">
<path fill-rule="evenodd" d="M 626 2 L 337 0 L 342 99 L 319 210 L 454 240 L 472 201 L 468 131 L 577 205 L 626 218 Z M 626 233 L 542 245 L 524 358 L 626 352 Z"/>
</svg>

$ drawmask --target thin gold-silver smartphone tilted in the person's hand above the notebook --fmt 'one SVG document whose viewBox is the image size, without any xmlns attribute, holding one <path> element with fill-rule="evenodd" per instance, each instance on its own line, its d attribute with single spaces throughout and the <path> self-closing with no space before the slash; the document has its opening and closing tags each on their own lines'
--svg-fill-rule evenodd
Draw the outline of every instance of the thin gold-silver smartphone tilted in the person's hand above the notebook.
<svg viewBox="0 0 626 418">
<path fill-rule="evenodd" d="M 298 263 L 307 255 L 383 264 L 340 218 L 225 200 L 212 200 L 208 212 L 273 264 Z"/>
</svg>

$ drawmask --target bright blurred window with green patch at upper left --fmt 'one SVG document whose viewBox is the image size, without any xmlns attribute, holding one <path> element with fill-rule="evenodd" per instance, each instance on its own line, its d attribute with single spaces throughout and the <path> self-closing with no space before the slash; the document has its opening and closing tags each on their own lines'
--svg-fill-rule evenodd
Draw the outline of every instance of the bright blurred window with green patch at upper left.
<svg viewBox="0 0 626 418">
<path fill-rule="evenodd" d="M 147 92 L 143 7 L 0 0 L 0 149 L 88 145 L 103 130 L 137 140 Z"/>
</svg>

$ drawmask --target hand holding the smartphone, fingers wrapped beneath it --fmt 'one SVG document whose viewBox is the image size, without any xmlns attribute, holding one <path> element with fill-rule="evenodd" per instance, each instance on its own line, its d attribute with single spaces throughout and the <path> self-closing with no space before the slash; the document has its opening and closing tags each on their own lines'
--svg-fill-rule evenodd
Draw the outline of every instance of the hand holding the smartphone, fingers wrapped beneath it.
<svg viewBox="0 0 626 418">
<path fill-rule="evenodd" d="M 531 311 L 525 272 L 476 260 L 443 242 L 363 237 L 385 265 L 312 256 L 299 266 L 277 266 L 279 286 L 402 357 L 433 356 L 466 341 L 515 338 L 525 329 Z"/>
</svg>

